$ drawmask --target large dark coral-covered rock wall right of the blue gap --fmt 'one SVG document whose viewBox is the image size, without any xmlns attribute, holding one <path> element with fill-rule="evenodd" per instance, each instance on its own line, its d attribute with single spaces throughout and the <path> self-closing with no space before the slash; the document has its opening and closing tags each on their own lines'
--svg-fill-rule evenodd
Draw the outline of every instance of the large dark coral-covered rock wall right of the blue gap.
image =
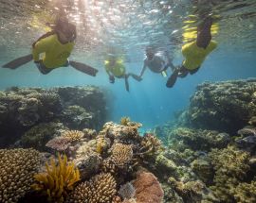
<svg viewBox="0 0 256 203">
<path fill-rule="evenodd" d="M 198 85 L 181 125 L 235 134 L 256 114 L 255 93 L 255 80 Z"/>
</svg>

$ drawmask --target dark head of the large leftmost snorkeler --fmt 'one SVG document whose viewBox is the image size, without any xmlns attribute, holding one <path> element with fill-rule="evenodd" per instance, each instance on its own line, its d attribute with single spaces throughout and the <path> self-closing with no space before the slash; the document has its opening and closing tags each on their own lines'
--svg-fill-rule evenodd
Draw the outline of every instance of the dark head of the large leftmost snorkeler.
<svg viewBox="0 0 256 203">
<path fill-rule="evenodd" d="M 73 42 L 77 38 L 76 25 L 69 23 L 65 17 L 58 19 L 54 30 L 63 42 Z"/>
</svg>

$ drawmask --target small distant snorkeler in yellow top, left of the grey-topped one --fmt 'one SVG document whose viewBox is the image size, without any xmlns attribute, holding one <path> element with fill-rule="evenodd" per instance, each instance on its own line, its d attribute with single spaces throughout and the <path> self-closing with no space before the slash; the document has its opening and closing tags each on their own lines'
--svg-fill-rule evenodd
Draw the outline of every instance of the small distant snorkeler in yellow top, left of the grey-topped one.
<svg viewBox="0 0 256 203">
<path fill-rule="evenodd" d="M 129 92 L 129 82 L 128 77 L 132 76 L 137 81 L 141 80 L 141 77 L 135 74 L 126 74 L 125 66 L 123 65 L 122 59 L 117 59 L 116 57 L 110 57 L 109 59 L 105 60 L 105 70 L 107 75 L 109 76 L 109 82 L 115 83 L 115 77 L 117 78 L 124 78 L 125 81 L 125 89 Z"/>
</svg>

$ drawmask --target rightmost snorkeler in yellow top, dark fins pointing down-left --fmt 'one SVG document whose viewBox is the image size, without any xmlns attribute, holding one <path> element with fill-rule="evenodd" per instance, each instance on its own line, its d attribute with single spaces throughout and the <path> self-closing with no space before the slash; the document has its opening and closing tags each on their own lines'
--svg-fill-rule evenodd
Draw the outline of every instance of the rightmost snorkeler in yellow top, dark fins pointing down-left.
<svg viewBox="0 0 256 203">
<path fill-rule="evenodd" d="M 182 46 L 182 55 L 185 59 L 182 65 L 174 68 L 173 75 L 168 78 L 166 83 L 168 88 L 174 87 L 177 77 L 183 78 L 188 74 L 195 74 L 210 52 L 217 47 L 217 42 L 211 41 L 211 25 L 212 19 L 206 18 L 202 24 L 197 26 L 196 41 Z"/>
</svg>

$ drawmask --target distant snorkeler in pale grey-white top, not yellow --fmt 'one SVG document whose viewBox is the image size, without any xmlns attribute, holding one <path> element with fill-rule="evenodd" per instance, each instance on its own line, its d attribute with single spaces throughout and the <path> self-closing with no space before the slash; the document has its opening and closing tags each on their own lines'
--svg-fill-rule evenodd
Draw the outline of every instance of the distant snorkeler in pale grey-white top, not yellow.
<svg viewBox="0 0 256 203">
<path fill-rule="evenodd" d="M 171 59 L 167 56 L 155 54 L 152 47 L 146 48 L 146 59 L 144 59 L 144 66 L 142 68 L 142 71 L 140 73 L 140 77 L 143 76 L 146 68 L 148 67 L 152 72 L 157 74 L 162 74 L 162 76 L 166 75 L 166 70 L 168 67 L 172 70 L 173 63 L 171 62 Z"/>
</svg>

